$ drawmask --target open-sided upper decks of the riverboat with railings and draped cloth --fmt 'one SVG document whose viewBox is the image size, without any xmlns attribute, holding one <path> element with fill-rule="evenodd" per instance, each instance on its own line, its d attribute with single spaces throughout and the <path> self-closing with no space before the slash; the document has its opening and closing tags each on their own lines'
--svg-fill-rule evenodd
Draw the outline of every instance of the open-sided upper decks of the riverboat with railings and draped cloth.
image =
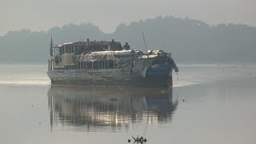
<svg viewBox="0 0 256 144">
<path fill-rule="evenodd" d="M 121 42 L 69 42 L 52 47 L 50 70 L 128 70 L 139 50 L 122 50 Z"/>
</svg>

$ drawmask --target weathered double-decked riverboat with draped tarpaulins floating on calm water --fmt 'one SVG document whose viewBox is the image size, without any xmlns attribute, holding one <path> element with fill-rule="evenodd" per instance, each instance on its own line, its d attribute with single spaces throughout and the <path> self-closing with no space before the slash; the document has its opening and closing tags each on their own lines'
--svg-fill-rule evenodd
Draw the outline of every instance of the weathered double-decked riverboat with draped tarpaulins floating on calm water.
<svg viewBox="0 0 256 144">
<path fill-rule="evenodd" d="M 121 42 L 69 42 L 50 46 L 51 84 L 173 86 L 170 53 L 122 47 Z"/>
</svg>

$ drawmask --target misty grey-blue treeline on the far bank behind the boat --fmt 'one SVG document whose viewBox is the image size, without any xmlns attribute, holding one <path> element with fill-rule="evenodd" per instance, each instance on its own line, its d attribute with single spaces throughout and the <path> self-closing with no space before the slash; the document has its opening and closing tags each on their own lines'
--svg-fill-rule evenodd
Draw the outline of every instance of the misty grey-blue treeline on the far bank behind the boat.
<svg viewBox="0 0 256 144">
<path fill-rule="evenodd" d="M 148 49 L 172 52 L 176 62 L 256 62 L 256 27 L 242 24 L 210 26 L 205 22 L 174 17 L 158 17 L 120 24 L 112 34 L 92 24 L 53 27 L 48 31 L 10 31 L 0 37 L 0 60 L 4 62 L 46 62 L 50 37 L 54 44 L 105 40 L 129 42 L 145 51 L 142 31 Z"/>
</svg>

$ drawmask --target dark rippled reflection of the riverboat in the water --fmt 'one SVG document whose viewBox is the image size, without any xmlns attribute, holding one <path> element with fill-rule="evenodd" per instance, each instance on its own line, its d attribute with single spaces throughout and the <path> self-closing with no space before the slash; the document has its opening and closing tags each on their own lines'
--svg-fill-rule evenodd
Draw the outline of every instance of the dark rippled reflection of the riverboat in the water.
<svg viewBox="0 0 256 144">
<path fill-rule="evenodd" d="M 48 101 L 51 127 L 86 131 L 170 122 L 178 106 L 171 88 L 124 86 L 51 86 Z"/>
</svg>

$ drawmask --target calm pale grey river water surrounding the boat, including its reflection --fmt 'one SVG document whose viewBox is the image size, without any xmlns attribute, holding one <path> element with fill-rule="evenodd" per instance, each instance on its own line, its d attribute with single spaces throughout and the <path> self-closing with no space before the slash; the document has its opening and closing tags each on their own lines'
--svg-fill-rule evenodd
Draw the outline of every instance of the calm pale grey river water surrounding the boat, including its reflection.
<svg viewBox="0 0 256 144">
<path fill-rule="evenodd" d="M 46 68 L 0 65 L 0 143 L 256 143 L 254 65 L 180 65 L 172 89 L 50 86 Z"/>
</svg>

